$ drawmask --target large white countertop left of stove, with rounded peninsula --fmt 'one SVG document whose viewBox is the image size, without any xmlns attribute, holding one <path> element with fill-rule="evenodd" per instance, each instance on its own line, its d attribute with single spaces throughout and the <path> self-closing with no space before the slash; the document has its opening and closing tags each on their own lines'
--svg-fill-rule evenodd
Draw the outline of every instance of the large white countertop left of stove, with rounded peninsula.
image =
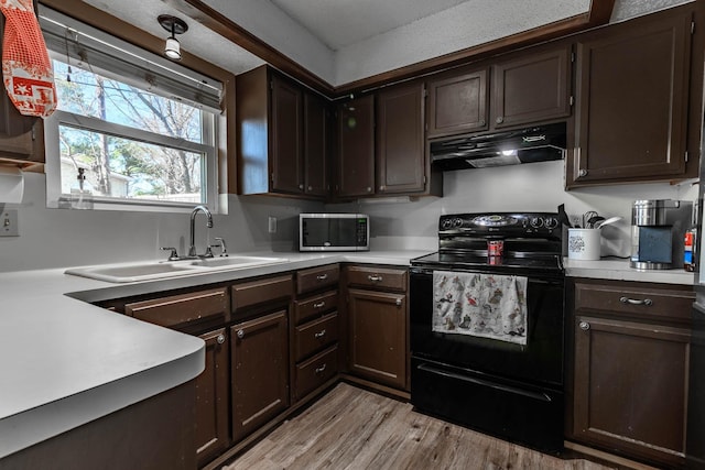
<svg viewBox="0 0 705 470">
<path fill-rule="evenodd" d="M 203 371 L 205 351 L 199 338 L 87 302 L 332 262 L 408 265 L 426 253 L 267 253 L 290 261 L 129 284 L 68 275 L 64 269 L 0 273 L 0 458 L 185 383 Z"/>
</svg>

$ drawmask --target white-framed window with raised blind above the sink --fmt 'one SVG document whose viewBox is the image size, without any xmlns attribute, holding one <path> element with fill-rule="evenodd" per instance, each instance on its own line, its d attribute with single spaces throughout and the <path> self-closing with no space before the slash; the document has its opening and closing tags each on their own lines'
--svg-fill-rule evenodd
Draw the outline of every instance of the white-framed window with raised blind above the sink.
<svg viewBox="0 0 705 470">
<path fill-rule="evenodd" d="M 220 84 L 50 9 L 40 19 L 58 99 L 47 206 L 217 209 Z"/>
</svg>

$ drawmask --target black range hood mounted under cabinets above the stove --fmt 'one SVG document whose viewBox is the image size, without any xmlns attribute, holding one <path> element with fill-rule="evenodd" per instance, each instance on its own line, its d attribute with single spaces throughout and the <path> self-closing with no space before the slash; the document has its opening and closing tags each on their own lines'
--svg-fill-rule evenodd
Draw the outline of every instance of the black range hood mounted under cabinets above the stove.
<svg viewBox="0 0 705 470">
<path fill-rule="evenodd" d="M 431 142 L 431 163 L 443 170 L 484 168 L 562 160 L 565 122 Z"/>
</svg>

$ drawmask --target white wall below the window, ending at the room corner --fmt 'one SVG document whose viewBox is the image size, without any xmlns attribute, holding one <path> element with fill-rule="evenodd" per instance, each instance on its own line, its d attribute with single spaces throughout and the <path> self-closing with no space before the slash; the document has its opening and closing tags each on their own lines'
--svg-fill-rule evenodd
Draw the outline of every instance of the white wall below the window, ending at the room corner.
<svg viewBox="0 0 705 470">
<path fill-rule="evenodd" d="M 0 237 L 0 272 L 75 266 L 127 261 L 164 260 L 161 247 L 188 251 L 189 214 L 127 212 L 108 210 L 47 209 L 44 175 L 24 175 L 22 204 L 18 209 L 20 237 Z M 297 216 L 322 208 L 318 203 L 263 196 L 229 196 L 229 215 L 196 219 L 198 252 L 206 238 L 225 238 L 231 253 L 258 250 L 291 251 Z M 278 232 L 268 233 L 268 217 L 279 220 Z"/>
</svg>

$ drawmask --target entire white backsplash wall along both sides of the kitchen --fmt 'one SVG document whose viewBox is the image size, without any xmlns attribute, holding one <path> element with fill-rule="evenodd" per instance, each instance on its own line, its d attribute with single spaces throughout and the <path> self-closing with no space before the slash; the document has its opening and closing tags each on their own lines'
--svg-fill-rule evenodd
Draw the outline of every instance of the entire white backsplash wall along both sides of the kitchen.
<svg viewBox="0 0 705 470">
<path fill-rule="evenodd" d="M 571 216 L 597 210 L 623 220 L 603 230 L 603 255 L 627 256 L 630 250 L 631 203 L 636 199 L 697 199 L 697 186 L 668 183 L 600 186 L 565 192 L 564 162 L 532 163 L 447 172 L 442 198 L 403 203 L 397 199 L 335 204 L 264 196 L 228 196 L 229 215 L 214 216 L 210 242 L 224 237 L 229 251 L 291 251 L 302 211 L 369 214 L 372 250 L 435 251 L 442 214 L 475 211 L 555 211 L 565 204 Z M 139 260 L 161 260 L 161 247 L 187 250 L 188 214 L 46 209 L 44 175 L 25 174 L 19 210 L 20 237 L 0 238 L 0 272 Z M 268 217 L 278 219 L 268 232 Z M 196 225 L 199 250 L 206 228 Z"/>
</svg>

